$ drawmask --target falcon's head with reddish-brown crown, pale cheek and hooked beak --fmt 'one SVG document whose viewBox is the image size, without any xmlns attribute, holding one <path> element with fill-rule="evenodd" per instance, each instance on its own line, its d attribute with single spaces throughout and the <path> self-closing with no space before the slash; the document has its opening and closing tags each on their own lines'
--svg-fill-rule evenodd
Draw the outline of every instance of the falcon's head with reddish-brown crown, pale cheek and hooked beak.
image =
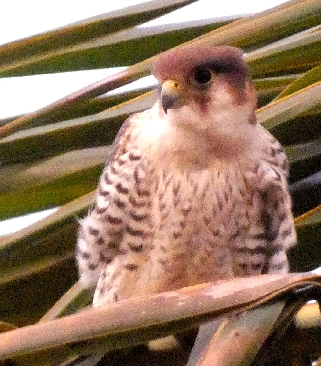
<svg viewBox="0 0 321 366">
<path fill-rule="evenodd" d="M 184 46 L 159 56 L 152 73 L 160 84 L 160 113 L 172 123 L 234 140 L 256 123 L 257 96 L 238 48 Z"/>
</svg>

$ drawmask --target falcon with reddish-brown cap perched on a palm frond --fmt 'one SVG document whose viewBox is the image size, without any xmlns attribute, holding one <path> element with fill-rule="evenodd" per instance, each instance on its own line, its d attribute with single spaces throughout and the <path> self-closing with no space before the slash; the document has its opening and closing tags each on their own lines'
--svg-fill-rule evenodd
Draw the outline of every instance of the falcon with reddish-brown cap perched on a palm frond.
<svg viewBox="0 0 321 366">
<path fill-rule="evenodd" d="M 93 306 L 287 273 L 289 164 L 257 122 L 243 52 L 185 45 L 159 55 L 152 74 L 158 100 L 123 123 L 80 220 L 78 272 Z"/>
</svg>

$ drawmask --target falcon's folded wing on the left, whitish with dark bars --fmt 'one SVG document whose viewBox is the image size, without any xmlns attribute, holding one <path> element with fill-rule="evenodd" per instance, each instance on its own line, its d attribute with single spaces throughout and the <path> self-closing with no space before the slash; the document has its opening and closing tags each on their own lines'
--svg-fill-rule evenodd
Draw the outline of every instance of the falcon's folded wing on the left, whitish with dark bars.
<svg viewBox="0 0 321 366">
<path fill-rule="evenodd" d="M 123 123 L 100 176 L 93 208 L 80 221 L 76 257 L 86 286 L 96 285 L 102 269 L 119 254 L 141 250 L 138 239 L 148 228 L 153 176 L 135 136 L 147 118 L 148 111 L 135 113 Z"/>
</svg>

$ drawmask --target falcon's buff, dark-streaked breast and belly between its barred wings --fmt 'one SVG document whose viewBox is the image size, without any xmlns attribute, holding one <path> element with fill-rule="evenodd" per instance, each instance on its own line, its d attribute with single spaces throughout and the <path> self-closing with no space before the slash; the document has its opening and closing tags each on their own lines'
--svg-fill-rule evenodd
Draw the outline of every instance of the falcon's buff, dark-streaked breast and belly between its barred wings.
<svg viewBox="0 0 321 366">
<path fill-rule="evenodd" d="M 253 196 L 240 171 L 163 171 L 158 182 L 151 260 L 171 273 L 165 287 L 235 276 L 234 251 L 247 239 Z"/>
</svg>

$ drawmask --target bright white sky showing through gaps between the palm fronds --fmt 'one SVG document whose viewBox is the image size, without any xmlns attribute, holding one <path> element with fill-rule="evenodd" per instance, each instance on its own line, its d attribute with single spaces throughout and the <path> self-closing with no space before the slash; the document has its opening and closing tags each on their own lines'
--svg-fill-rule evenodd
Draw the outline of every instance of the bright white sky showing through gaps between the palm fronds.
<svg viewBox="0 0 321 366">
<path fill-rule="evenodd" d="M 2 1 L 0 44 L 141 2 L 143 1 L 55 0 L 49 3 L 43 0 Z M 145 26 L 259 12 L 284 2 L 283 0 L 199 0 L 148 22 Z M 81 87 L 106 78 L 118 70 L 102 69 L 2 78 L 0 79 L 0 119 L 32 112 Z M 152 82 L 152 78 L 147 78 L 143 85 Z M 33 214 L 23 219 L 2 221 L 0 235 L 16 231 L 51 212 L 52 210 L 48 210 L 48 212 Z"/>
</svg>

